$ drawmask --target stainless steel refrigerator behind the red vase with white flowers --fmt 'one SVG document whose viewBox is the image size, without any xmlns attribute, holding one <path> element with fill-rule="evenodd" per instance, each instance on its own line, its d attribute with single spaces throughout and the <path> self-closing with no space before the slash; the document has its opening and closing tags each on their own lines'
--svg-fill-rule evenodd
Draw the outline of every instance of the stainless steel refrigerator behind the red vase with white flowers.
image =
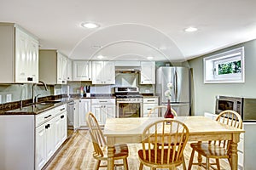
<svg viewBox="0 0 256 170">
<path fill-rule="evenodd" d="M 167 83 L 172 82 L 171 106 L 177 111 L 177 116 L 189 116 L 191 106 L 189 68 L 161 66 L 157 69 L 156 75 L 156 95 L 160 96 L 160 105 L 167 105 L 165 92 L 168 89 Z"/>
</svg>

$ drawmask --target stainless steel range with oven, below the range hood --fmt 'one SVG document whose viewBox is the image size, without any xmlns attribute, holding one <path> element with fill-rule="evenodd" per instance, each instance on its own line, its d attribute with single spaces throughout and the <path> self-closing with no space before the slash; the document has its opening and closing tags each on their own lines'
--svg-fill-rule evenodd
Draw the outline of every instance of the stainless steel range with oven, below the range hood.
<svg viewBox="0 0 256 170">
<path fill-rule="evenodd" d="M 143 95 L 135 87 L 115 87 L 116 116 L 140 117 L 143 114 Z"/>
</svg>

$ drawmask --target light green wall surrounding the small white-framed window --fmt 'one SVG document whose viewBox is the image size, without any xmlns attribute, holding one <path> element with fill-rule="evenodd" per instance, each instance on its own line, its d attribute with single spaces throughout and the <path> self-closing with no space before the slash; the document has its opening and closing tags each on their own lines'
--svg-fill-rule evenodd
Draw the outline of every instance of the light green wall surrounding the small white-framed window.
<svg viewBox="0 0 256 170">
<path fill-rule="evenodd" d="M 244 46 L 245 50 L 245 82 L 204 84 L 203 58 L 241 46 Z M 212 54 L 189 60 L 189 67 L 193 71 L 192 115 L 203 115 L 204 112 L 213 113 L 215 111 L 216 95 L 256 98 L 256 40 L 224 48 Z"/>
</svg>

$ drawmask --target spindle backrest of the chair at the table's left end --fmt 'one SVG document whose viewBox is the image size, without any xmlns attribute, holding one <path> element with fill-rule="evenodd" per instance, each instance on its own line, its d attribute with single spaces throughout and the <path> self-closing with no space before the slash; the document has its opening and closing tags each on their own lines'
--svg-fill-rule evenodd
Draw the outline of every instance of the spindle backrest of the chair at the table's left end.
<svg viewBox="0 0 256 170">
<path fill-rule="evenodd" d="M 106 140 L 96 117 L 91 112 L 86 114 L 86 122 L 89 127 L 89 133 L 94 147 L 94 156 L 104 156 L 102 147 L 106 146 Z"/>
</svg>

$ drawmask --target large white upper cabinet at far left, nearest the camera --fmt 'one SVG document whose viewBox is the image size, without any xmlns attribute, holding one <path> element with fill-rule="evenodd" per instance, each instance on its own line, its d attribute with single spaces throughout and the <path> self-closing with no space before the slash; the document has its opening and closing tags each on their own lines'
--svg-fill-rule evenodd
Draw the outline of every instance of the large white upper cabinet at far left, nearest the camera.
<svg viewBox="0 0 256 170">
<path fill-rule="evenodd" d="M 38 82 L 38 38 L 10 23 L 0 23 L 0 37 L 0 83 Z"/>
</svg>

